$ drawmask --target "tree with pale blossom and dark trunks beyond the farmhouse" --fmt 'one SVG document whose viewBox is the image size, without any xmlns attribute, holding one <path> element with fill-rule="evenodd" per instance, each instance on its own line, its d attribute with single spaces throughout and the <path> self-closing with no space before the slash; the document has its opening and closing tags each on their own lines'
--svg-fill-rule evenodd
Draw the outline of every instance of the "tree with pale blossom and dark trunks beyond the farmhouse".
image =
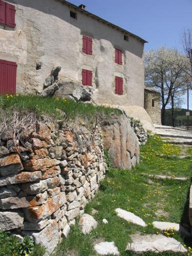
<svg viewBox="0 0 192 256">
<path fill-rule="evenodd" d="M 182 59 L 178 64 L 179 59 Z M 144 57 L 145 85 L 154 87 L 161 93 L 161 123 L 164 125 L 165 108 L 172 108 L 174 126 L 174 103 L 179 102 L 185 91 L 184 56 L 174 48 L 161 46 L 149 50 Z"/>
</svg>

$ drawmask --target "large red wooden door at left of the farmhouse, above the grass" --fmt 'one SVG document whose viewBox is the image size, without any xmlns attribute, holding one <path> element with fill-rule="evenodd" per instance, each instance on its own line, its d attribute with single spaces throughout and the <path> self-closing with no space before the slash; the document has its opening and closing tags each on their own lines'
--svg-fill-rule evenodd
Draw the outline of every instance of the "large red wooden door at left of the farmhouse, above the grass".
<svg viewBox="0 0 192 256">
<path fill-rule="evenodd" d="M 16 63 L 0 59 L 0 94 L 16 93 Z"/>
</svg>

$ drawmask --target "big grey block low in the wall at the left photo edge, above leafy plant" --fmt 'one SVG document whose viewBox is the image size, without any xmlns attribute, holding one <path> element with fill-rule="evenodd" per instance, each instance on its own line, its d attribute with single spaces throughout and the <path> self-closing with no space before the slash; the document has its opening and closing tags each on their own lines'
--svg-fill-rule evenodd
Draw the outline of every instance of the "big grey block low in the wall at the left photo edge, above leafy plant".
<svg viewBox="0 0 192 256">
<path fill-rule="evenodd" d="M 17 211 L 0 211 L 0 230 L 10 230 L 22 226 L 23 213 Z"/>
</svg>

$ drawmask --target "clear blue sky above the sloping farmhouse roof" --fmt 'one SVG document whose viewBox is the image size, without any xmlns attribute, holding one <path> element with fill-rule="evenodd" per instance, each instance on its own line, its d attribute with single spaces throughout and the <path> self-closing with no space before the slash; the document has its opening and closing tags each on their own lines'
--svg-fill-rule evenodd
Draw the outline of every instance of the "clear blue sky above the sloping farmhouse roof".
<svg viewBox="0 0 192 256">
<path fill-rule="evenodd" d="M 69 0 L 86 5 L 86 10 L 114 23 L 148 43 L 145 50 L 180 48 L 184 27 L 192 27 L 192 0 Z"/>
</svg>

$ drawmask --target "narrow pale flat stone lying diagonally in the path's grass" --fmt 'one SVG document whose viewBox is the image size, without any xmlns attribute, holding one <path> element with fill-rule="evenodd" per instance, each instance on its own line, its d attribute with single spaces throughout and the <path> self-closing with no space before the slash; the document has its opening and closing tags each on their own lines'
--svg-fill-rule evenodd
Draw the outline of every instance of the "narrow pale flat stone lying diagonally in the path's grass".
<svg viewBox="0 0 192 256">
<path fill-rule="evenodd" d="M 140 226 L 146 226 L 146 223 L 140 217 L 136 216 L 134 213 L 130 211 L 116 208 L 115 212 L 119 217 L 125 219 L 126 221 L 132 222 Z"/>
</svg>

